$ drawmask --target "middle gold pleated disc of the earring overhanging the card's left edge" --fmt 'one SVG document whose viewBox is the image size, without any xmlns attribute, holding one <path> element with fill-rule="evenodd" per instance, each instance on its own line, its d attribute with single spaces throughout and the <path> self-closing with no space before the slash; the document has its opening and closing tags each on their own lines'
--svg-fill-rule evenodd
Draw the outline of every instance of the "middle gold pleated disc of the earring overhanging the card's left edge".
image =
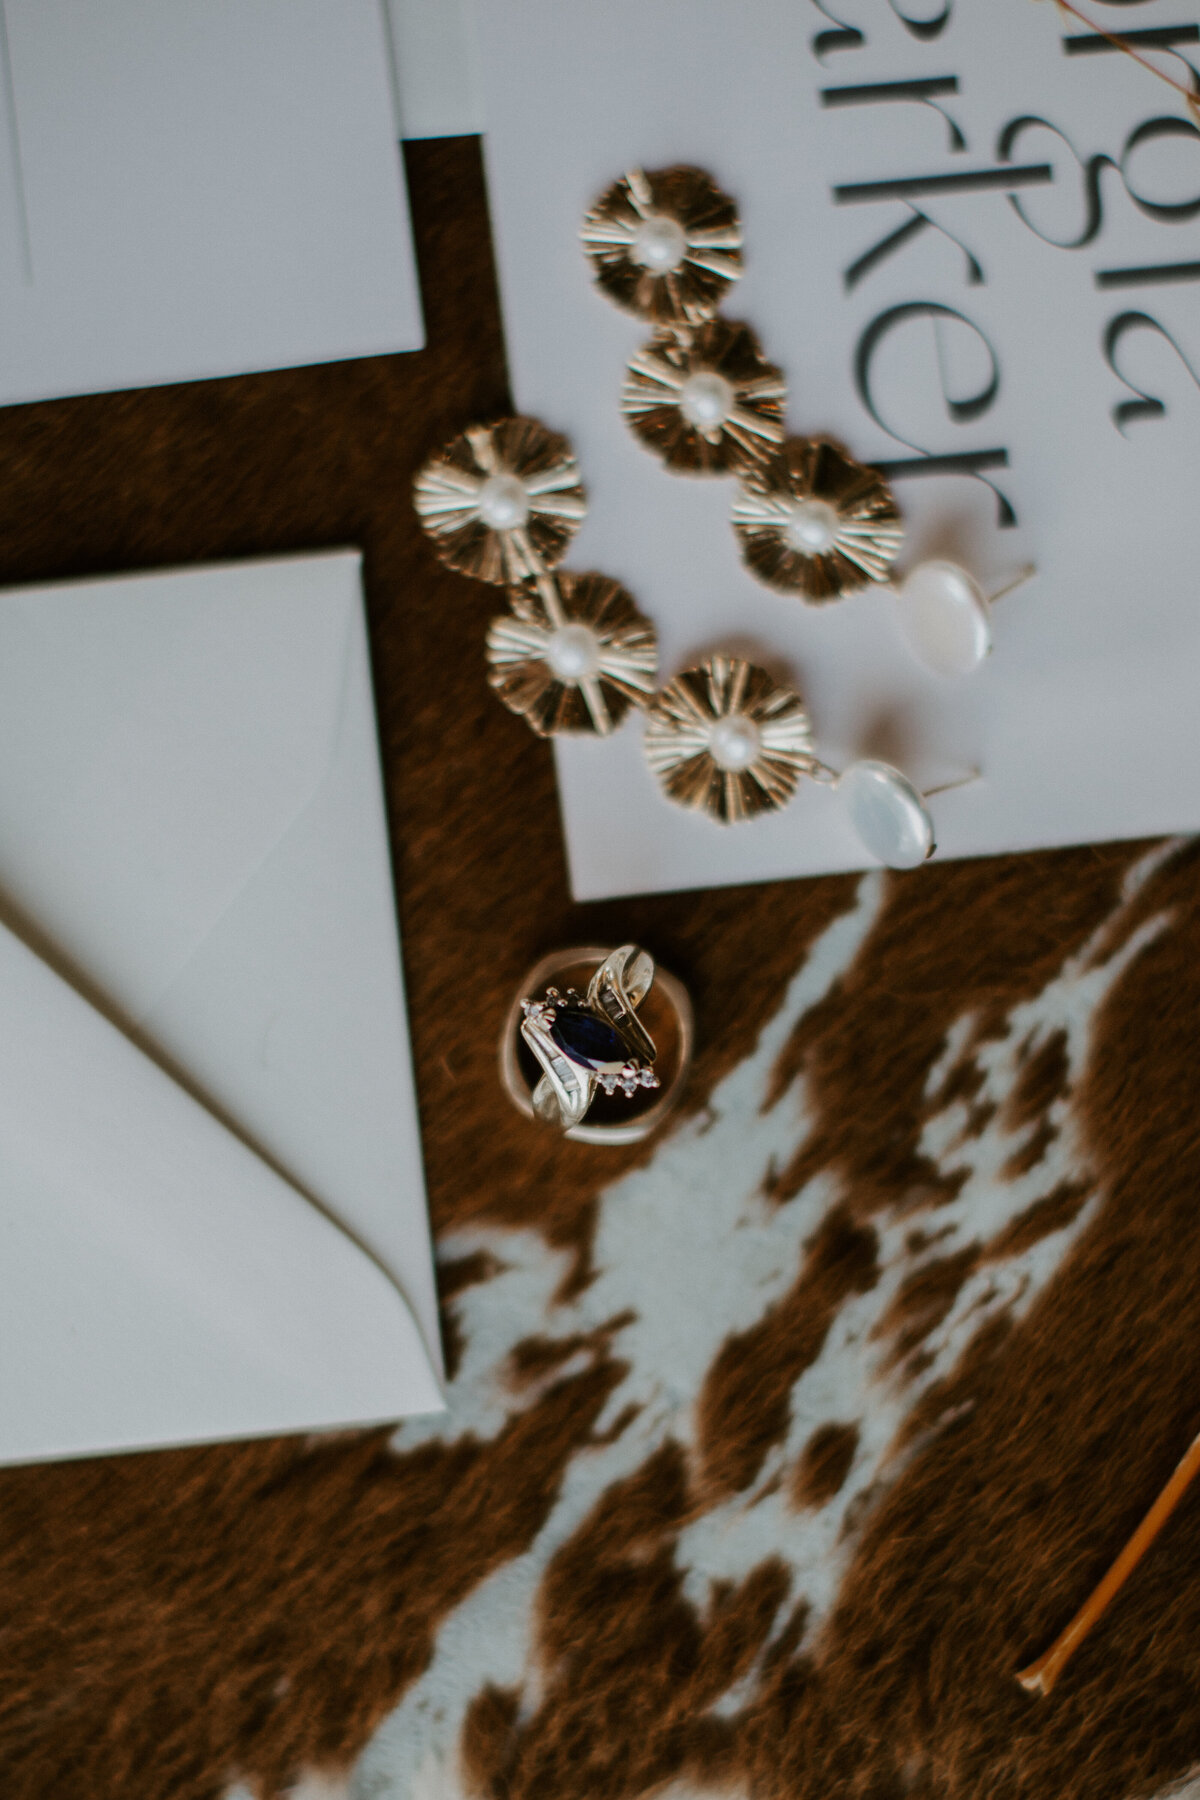
<svg viewBox="0 0 1200 1800">
<path fill-rule="evenodd" d="M 488 680 L 540 738 L 606 738 L 653 695 L 658 639 L 619 581 L 560 571 L 513 589 L 509 605 L 488 632 Z"/>
</svg>

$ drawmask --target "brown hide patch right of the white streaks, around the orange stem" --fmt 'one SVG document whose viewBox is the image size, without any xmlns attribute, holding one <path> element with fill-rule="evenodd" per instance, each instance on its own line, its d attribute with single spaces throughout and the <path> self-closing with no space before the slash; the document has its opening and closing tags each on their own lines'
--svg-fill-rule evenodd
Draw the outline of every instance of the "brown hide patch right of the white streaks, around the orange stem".
<svg viewBox="0 0 1200 1800">
<path fill-rule="evenodd" d="M 741 1742 L 766 1795 L 1126 1800 L 1200 1762 L 1200 1496 L 1051 1699 L 1013 1679 L 1198 1424 L 1196 873 L 1189 848 L 1151 880 L 1142 916 L 1169 905 L 1177 923 L 1094 1031 L 1079 1100 L 1101 1211 L 1029 1319 L 973 1359 L 970 1409 L 869 1519 L 820 1660 L 797 1665 L 799 1706 L 750 1706 Z"/>
</svg>

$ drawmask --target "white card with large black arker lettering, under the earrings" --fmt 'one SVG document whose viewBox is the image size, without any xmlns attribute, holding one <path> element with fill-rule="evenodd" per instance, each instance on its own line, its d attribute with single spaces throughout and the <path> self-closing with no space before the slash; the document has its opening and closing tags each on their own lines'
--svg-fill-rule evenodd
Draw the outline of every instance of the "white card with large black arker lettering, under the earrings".
<svg viewBox="0 0 1200 1800">
<path fill-rule="evenodd" d="M 1088 13 L 1087 0 L 1081 7 Z M 1090 5 L 1178 79 L 1180 0 Z M 1200 133 L 1180 95 L 1029 0 L 495 0 L 488 169 L 515 398 L 588 488 L 569 553 L 633 592 L 662 679 L 725 648 L 799 686 L 817 752 L 883 756 L 939 855 L 1200 828 Z M 1141 34 L 1141 36 L 1139 36 Z M 815 608 L 757 585 L 734 482 L 669 473 L 619 418 L 649 337 L 590 283 L 579 220 L 622 171 L 696 164 L 736 196 L 748 320 L 788 430 L 883 464 L 900 571 L 999 587 L 995 650 L 943 680 L 885 589 Z M 826 788 L 721 828 L 660 797 L 633 716 L 558 740 L 579 898 L 862 866 Z"/>
</svg>

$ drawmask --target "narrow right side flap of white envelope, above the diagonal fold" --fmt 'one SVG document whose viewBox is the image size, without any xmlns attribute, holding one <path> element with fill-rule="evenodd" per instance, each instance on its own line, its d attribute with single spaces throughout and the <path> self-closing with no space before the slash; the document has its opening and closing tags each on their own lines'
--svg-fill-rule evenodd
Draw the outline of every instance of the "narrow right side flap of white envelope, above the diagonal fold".
<svg viewBox="0 0 1200 1800">
<path fill-rule="evenodd" d="M 349 1224 L 407 1296 L 437 1366 L 437 1294 L 367 625 L 347 621 L 336 742 L 317 792 L 196 956 L 137 1019 L 273 1166 Z"/>
</svg>

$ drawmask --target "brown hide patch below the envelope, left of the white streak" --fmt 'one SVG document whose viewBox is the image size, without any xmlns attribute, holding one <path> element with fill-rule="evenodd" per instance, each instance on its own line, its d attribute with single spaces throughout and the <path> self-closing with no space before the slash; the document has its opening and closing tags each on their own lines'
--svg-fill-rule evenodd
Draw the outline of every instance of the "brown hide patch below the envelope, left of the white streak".
<svg viewBox="0 0 1200 1800">
<path fill-rule="evenodd" d="M 237 1768 L 275 1795 L 345 1762 L 441 1618 L 529 1548 L 615 1379 L 561 1382 L 491 1444 L 396 1456 L 374 1433 L 5 1471 L 5 1800 L 209 1800 Z M 47 1611 L 68 1568 L 86 1579 Z"/>
</svg>

